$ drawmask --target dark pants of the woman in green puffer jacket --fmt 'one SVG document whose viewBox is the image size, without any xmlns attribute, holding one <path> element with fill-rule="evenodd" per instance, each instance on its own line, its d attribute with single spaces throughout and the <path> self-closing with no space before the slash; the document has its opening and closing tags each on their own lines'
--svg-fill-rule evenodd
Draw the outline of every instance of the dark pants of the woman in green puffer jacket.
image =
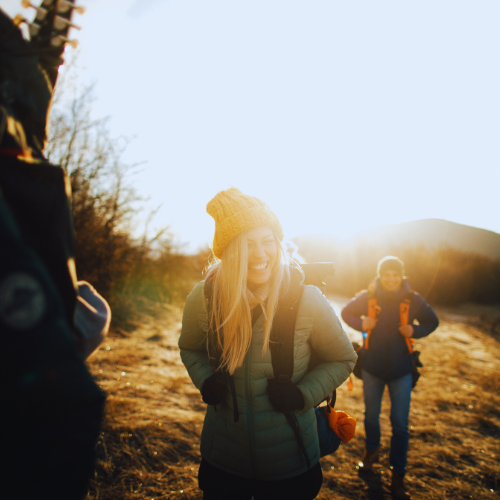
<svg viewBox="0 0 500 500">
<path fill-rule="evenodd" d="M 198 484 L 203 500 L 313 500 L 321 489 L 323 472 L 319 462 L 300 476 L 280 481 L 247 479 L 224 472 L 202 459 Z"/>
</svg>

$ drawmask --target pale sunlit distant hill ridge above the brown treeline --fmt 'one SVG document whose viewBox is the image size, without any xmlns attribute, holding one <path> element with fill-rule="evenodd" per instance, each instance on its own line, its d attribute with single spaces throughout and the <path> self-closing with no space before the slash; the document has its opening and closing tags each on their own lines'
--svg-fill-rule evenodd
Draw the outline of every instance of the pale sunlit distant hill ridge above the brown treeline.
<svg viewBox="0 0 500 500">
<path fill-rule="evenodd" d="M 443 219 L 422 219 L 378 226 L 342 242 L 328 234 L 299 236 L 293 240 L 299 247 L 299 253 L 301 247 L 314 247 L 315 258 L 321 258 L 322 250 L 328 252 L 332 247 L 346 250 L 365 243 L 371 247 L 401 244 L 423 245 L 433 249 L 449 247 L 500 259 L 500 234 Z"/>
</svg>

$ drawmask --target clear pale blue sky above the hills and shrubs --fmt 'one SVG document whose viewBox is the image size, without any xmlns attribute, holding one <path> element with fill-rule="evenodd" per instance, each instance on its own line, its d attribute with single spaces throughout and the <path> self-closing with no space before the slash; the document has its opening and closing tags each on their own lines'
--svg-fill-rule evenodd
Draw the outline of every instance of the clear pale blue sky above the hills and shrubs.
<svg viewBox="0 0 500 500">
<path fill-rule="evenodd" d="M 94 115 L 136 136 L 133 183 L 189 248 L 230 186 L 288 237 L 430 217 L 500 232 L 498 0 L 82 4 Z"/>
</svg>

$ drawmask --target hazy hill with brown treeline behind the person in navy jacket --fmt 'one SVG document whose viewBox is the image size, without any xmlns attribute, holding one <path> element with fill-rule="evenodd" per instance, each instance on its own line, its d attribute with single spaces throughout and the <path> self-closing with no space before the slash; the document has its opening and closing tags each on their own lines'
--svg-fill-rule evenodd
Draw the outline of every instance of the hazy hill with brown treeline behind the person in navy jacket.
<svg viewBox="0 0 500 500">
<path fill-rule="evenodd" d="M 414 290 L 433 304 L 500 304 L 500 234 L 440 219 L 368 229 L 349 240 L 293 238 L 306 262 L 333 262 L 326 291 L 352 297 L 375 278 L 378 261 L 397 255 Z"/>
</svg>

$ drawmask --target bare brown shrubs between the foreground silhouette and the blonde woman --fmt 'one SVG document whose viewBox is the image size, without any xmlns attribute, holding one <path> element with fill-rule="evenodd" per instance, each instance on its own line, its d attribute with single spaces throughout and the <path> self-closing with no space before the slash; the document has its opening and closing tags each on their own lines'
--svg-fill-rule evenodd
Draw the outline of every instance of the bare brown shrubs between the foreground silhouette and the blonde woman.
<svg viewBox="0 0 500 500">
<path fill-rule="evenodd" d="M 64 91 L 58 85 L 58 93 Z M 78 277 L 108 300 L 113 326 L 131 331 L 157 304 L 184 300 L 209 252 L 184 255 L 166 228 L 150 236 L 148 223 L 142 237 L 132 236 L 142 200 L 130 183 L 134 166 L 121 159 L 128 139 L 110 137 L 106 120 L 91 119 L 91 88 L 58 97 L 45 153 L 71 181 Z"/>
</svg>

